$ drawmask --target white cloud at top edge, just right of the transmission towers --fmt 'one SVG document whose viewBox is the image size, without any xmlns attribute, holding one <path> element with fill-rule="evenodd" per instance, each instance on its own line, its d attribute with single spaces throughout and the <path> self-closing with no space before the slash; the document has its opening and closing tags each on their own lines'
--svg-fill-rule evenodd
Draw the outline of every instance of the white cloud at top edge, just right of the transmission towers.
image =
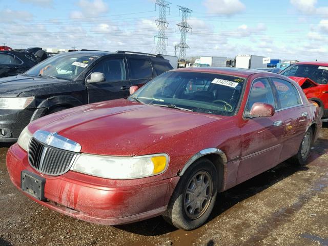
<svg viewBox="0 0 328 246">
<path fill-rule="evenodd" d="M 234 15 L 245 9 L 243 3 L 239 0 L 205 0 L 203 5 L 208 12 L 222 15 Z"/>
</svg>

